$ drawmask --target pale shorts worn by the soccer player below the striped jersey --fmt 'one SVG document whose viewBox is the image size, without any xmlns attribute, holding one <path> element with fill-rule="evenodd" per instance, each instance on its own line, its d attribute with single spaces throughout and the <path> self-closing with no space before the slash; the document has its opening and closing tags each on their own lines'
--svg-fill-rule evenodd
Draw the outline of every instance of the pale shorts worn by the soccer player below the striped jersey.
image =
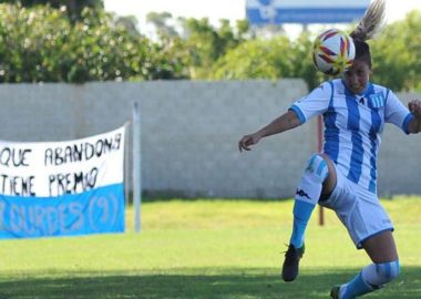
<svg viewBox="0 0 421 299">
<path fill-rule="evenodd" d="M 377 195 L 349 181 L 338 167 L 335 168 L 337 185 L 329 198 L 319 202 L 319 205 L 336 212 L 357 248 L 361 249 L 362 243 L 377 234 L 393 230 L 393 224 Z"/>
</svg>

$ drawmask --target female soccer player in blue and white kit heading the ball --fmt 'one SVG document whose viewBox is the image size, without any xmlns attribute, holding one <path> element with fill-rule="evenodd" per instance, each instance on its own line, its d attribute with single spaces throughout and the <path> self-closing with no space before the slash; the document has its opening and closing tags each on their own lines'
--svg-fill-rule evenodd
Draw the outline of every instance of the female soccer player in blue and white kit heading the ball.
<svg viewBox="0 0 421 299">
<path fill-rule="evenodd" d="M 292 281 L 305 251 L 305 230 L 317 204 L 331 208 L 358 249 L 372 264 L 351 281 L 331 289 L 331 298 L 348 299 L 374 291 L 398 277 L 399 257 L 392 223 L 377 197 L 377 155 L 384 123 L 405 134 L 421 131 L 421 101 L 407 109 L 389 89 L 372 84 L 371 54 L 366 40 L 379 30 L 383 0 L 374 1 L 350 34 L 356 59 L 342 79 L 322 83 L 295 102 L 284 115 L 238 142 L 242 152 L 263 137 L 278 134 L 322 114 L 324 152 L 314 154 L 302 173 L 294 204 L 294 226 L 283 265 L 283 279 Z"/>
</svg>

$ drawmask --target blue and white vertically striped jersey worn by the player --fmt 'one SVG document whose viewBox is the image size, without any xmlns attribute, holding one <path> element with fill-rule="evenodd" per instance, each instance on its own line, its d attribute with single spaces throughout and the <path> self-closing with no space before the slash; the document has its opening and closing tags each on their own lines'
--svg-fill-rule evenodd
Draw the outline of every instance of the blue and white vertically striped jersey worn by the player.
<svg viewBox="0 0 421 299">
<path fill-rule="evenodd" d="M 301 123 L 322 114 L 324 152 L 350 181 L 374 194 L 384 123 L 392 123 L 408 134 L 413 117 L 390 90 L 369 83 L 363 94 L 356 95 L 341 79 L 322 83 L 290 110 Z"/>
</svg>

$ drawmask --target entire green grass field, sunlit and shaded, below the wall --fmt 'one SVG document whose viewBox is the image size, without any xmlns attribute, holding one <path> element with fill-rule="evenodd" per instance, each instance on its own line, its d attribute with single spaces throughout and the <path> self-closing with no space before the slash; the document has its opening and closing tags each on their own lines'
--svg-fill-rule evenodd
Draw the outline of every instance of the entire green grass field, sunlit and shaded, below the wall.
<svg viewBox="0 0 421 299">
<path fill-rule="evenodd" d="M 383 200 L 402 275 L 367 298 L 421 298 L 421 198 Z M 0 299 L 329 298 L 369 264 L 336 216 L 314 214 L 300 276 L 280 280 L 292 200 L 170 200 L 142 206 L 142 233 L 0 241 Z"/>
</svg>

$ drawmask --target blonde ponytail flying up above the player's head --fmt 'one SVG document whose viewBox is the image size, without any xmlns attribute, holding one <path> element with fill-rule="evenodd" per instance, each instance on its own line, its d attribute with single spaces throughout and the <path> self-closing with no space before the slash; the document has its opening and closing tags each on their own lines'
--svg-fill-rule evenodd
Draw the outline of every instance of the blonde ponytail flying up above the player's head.
<svg viewBox="0 0 421 299">
<path fill-rule="evenodd" d="M 367 41 L 376 35 L 384 27 L 386 1 L 374 0 L 366 10 L 357 28 L 349 34 L 353 40 Z"/>
</svg>

